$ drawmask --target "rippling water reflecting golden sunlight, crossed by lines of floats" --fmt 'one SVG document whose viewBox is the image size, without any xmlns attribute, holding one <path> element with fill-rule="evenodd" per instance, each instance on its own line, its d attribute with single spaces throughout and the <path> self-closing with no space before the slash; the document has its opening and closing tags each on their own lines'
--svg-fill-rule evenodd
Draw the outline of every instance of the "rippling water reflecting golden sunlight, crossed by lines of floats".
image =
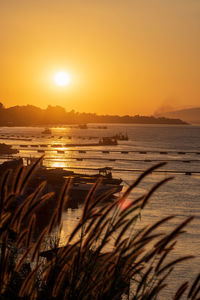
<svg viewBox="0 0 200 300">
<path fill-rule="evenodd" d="M 137 176 L 159 161 L 168 161 L 160 173 L 153 173 L 131 194 L 131 198 L 144 193 L 157 181 L 173 175 L 174 179 L 157 191 L 142 214 L 142 224 L 152 224 L 161 217 L 176 215 L 176 218 L 162 227 L 169 231 L 189 216 L 195 216 L 187 226 L 187 233 L 182 235 L 174 251 L 174 258 L 180 255 L 195 255 L 190 263 L 180 264 L 172 276 L 169 294 L 178 283 L 191 280 L 200 271 L 200 127 L 199 126 L 167 126 L 167 125 L 119 125 L 106 124 L 107 129 L 97 129 L 96 124 L 89 125 L 88 129 L 70 127 L 51 128 L 52 135 L 42 135 L 43 128 L 1 127 L 0 142 L 12 144 L 18 148 L 23 157 L 41 156 L 38 149 L 45 151 L 45 164 L 49 167 L 83 168 L 82 173 L 94 173 L 99 167 L 113 167 L 113 176 L 124 180 L 124 189 Z M 82 147 L 86 153 L 79 153 L 79 147 L 53 148 L 54 144 L 67 143 L 98 143 L 102 136 L 112 136 L 116 133 L 126 133 L 128 141 L 119 141 L 117 146 L 107 146 L 109 153 L 102 153 L 104 147 Z M 31 141 L 11 140 L 9 138 L 31 138 Z M 28 148 L 21 147 L 28 144 Z M 43 147 L 41 145 L 46 145 Z M 38 145 L 32 148 L 31 145 Z M 58 154 L 57 150 L 64 150 Z M 118 152 L 116 152 L 118 151 Z M 133 151 L 121 153 L 123 151 Z M 143 152 L 143 153 L 140 153 Z M 146 153 L 144 153 L 146 152 Z M 163 153 L 164 152 L 164 153 Z M 179 153 L 178 153 L 179 152 Z M 181 153 L 180 153 L 181 152 Z M 16 155 L 15 155 L 16 156 Z M 82 161 L 77 160 L 82 158 Z M 4 161 L 6 158 L 1 158 Z M 192 173 L 188 176 L 185 173 Z M 72 226 L 80 217 L 81 207 L 65 213 L 63 222 L 63 238 L 66 237 Z M 131 233 L 130 233 L 131 234 Z"/>
</svg>

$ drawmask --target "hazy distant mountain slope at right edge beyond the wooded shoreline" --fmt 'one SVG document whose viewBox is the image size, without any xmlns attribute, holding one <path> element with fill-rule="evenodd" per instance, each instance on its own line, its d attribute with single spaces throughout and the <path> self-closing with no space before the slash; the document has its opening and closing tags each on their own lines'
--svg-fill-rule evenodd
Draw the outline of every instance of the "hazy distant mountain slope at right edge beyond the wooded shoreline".
<svg viewBox="0 0 200 300">
<path fill-rule="evenodd" d="M 186 108 L 181 110 L 157 113 L 156 117 L 180 118 L 185 122 L 200 124 L 200 107 Z"/>
</svg>

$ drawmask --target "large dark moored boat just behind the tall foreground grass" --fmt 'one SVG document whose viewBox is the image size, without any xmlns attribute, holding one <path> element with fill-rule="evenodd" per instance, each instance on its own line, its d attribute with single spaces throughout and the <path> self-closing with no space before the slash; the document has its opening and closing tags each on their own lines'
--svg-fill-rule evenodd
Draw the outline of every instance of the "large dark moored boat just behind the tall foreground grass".
<svg viewBox="0 0 200 300">
<path fill-rule="evenodd" d="M 35 159 L 28 158 L 27 165 L 31 165 L 33 161 Z M 54 191 L 56 196 L 59 196 L 60 190 L 68 178 L 72 179 L 69 188 L 69 203 L 73 203 L 73 201 L 82 203 L 98 178 L 101 178 L 101 183 L 94 194 L 95 197 L 109 193 L 106 199 L 110 199 L 114 194 L 121 192 L 123 188 L 122 179 L 113 178 L 110 167 L 100 168 L 97 174 L 88 175 L 63 168 L 46 168 L 41 162 L 40 168 L 35 174 L 35 181 L 39 184 L 46 180 L 48 191 Z"/>
</svg>

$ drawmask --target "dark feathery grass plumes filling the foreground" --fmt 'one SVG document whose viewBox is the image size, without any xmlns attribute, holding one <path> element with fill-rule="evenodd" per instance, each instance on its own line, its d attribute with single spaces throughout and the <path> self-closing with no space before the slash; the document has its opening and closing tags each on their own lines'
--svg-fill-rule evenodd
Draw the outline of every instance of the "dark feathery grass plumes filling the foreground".
<svg viewBox="0 0 200 300">
<path fill-rule="evenodd" d="M 59 235 L 53 239 L 50 234 L 61 223 L 71 181 L 63 186 L 50 222 L 35 237 L 37 208 L 52 197 L 52 193 L 43 193 L 45 182 L 32 193 L 26 193 L 39 162 L 28 168 L 20 166 L 13 172 L 6 170 L 1 176 L 0 299 L 118 300 L 123 294 L 132 300 L 159 299 L 162 290 L 170 288 L 167 279 L 174 267 L 192 258 L 170 260 L 177 238 L 192 217 L 164 234 L 159 232 L 160 226 L 174 216 L 134 231 L 152 194 L 171 177 L 136 197 L 123 210 L 120 206 L 163 163 L 141 174 L 120 198 L 101 206 L 98 203 L 105 195 L 94 198 L 100 184 L 97 181 L 85 199 L 78 224 L 67 233 L 65 245 L 59 247 Z M 127 234 L 129 230 L 131 235 Z M 106 247 L 113 237 L 114 247 L 108 251 Z M 44 251 L 46 244 L 50 251 Z M 193 284 L 189 284 L 187 277 L 185 274 L 185 281 L 174 291 L 174 300 L 183 295 L 186 299 L 199 299 L 200 275 Z"/>
</svg>

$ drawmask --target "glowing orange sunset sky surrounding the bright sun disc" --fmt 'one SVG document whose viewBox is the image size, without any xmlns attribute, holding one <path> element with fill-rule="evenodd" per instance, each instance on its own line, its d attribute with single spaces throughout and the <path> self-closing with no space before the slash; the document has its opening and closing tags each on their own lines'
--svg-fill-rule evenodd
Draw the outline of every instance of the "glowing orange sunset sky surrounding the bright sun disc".
<svg viewBox="0 0 200 300">
<path fill-rule="evenodd" d="M 200 0 L 0 0 L 0 102 L 112 115 L 200 106 Z"/>
</svg>

